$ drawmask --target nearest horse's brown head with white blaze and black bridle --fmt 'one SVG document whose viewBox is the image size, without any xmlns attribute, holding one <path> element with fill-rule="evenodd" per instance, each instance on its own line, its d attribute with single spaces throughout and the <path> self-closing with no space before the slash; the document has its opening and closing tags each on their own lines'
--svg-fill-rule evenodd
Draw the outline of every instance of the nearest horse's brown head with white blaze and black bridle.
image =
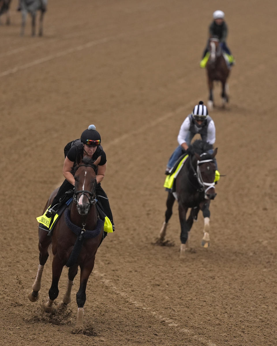
<svg viewBox="0 0 277 346">
<path fill-rule="evenodd" d="M 93 161 L 90 158 L 83 158 L 77 163 L 74 172 L 75 194 L 74 202 L 80 215 L 87 215 L 92 204 L 96 203 L 96 171 L 101 156 Z"/>
</svg>

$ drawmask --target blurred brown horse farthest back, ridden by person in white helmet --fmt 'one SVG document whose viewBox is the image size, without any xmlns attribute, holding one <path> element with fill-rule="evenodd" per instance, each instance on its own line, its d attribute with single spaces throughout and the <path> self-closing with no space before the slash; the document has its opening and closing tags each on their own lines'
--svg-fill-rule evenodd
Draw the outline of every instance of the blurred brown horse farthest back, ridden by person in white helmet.
<svg viewBox="0 0 277 346">
<path fill-rule="evenodd" d="M 209 100 L 207 106 L 209 110 L 213 109 L 214 96 L 213 96 L 213 82 L 221 82 L 222 92 L 222 107 L 229 101 L 228 84 L 227 79 L 230 74 L 230 68 L 228 67 L 226 60 L 223 56 L 222 48 L 218 38 L 211 37 L 208 41 L 208 51 L 210 53 L 208 62 L 206 64 L 208 88 L 209 88 Z"/>
</svg>

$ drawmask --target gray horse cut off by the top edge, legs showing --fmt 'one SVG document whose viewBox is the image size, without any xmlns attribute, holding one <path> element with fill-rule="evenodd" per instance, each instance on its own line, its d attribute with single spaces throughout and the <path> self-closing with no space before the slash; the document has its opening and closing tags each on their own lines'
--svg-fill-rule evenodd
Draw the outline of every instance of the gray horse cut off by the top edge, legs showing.
<svg viewBox="0 0 277 346">
<path fill-rule="evenodd" d="M 26 17 L 27 13 L 30 13 L 32 17 L 32 36 L 36 34 L 36 12 L 41 11 L 41 16 L 39 17 L 39 30 L 38 35 L 42 36 L 43 34 L 43 17 L 46 11 L 48 0 L 19 0 L 18 2 L 18 11 L 21 11 L 22 14 L 22 23 L 21 23 L 21 36 L 24 35 Z"/>
</svg>

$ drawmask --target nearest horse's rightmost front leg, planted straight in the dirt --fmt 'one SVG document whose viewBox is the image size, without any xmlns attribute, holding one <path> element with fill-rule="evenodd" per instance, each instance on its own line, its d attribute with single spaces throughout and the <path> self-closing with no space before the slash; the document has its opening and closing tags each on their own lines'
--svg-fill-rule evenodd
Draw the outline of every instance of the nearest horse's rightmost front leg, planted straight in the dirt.
<svg viewBox="0 0 277 346">
<path fill-rule="evenodd" d="M 86 302 L 86 288 L 87 288 L 87 282 L 89 279 L 89 275 L 92 272 L 93 266 L 94 266 L 94 260 L 95 256 L 92 259 L 92 262 L 90 265 L 86 267 L 81 267 L 81 273 L 80 273 L 80 287 L 79 291 L 76 293 L 76 301 L 78 305 L 78 315 L 77 315 L 77 322 L 76 322 L 76 328 L 78 330 L 83 329 L 83 313 L 84 313 L 84 304 Z"/>
</svg>

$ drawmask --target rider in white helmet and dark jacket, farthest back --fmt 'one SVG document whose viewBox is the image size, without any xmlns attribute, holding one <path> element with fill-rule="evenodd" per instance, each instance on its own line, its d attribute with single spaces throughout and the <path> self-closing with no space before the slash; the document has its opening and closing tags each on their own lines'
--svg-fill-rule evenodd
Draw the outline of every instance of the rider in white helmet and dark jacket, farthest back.
<svg viewBox="0 0 277 346">
<path fill-rule="evenodd" d="M 230 52 L 230 49 L 227 47 L 226 44 L 226 38 L 228 35 L 228 27 L 227 24 L 224 20 L 224 12 L 217 10 L 214 11 L 213 13 L 213 18 L 214 20 L 212 23 L 209 25 L 209 38 L 215 37 L 218 38 L 221 48 L 223 51 L 227 54 L 229 64 L 233 65 L 234 64 L 234 57 Z M 200 67 L 204 68 L 206 66 L 206 63 L 208 61 L 209 55 L 206 55 L 208 53 L 208 43 L 206 45 L 206 48 L 203 52 L 202 60 L 200 62 Z"/>
</svg>

